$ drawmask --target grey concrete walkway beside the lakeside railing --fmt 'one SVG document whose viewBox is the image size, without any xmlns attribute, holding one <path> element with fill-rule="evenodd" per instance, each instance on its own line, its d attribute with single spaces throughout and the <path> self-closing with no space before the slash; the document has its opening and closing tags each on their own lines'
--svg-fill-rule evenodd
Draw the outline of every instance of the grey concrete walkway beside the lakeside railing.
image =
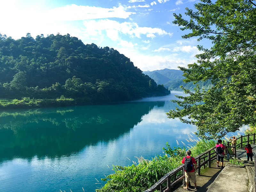
<svg viewBox="0 0 256 192">
<path fill-rule="evenodd" d="M 253 154 L 256 152 L 256 145 L 252 145 Z M 216 162 L 211 168 L 206 168 L 200 176 L 196 176 L 197 190 L 191 187 L 190 191 L 197 192 L 252 192 L 254 183 L 254 163 L 247 162 L 246 151 L 236 150 L 236 158 L 244 162 L 244 166 L 230 164 L 224 160 L 224 169 L 216 167 Z M 254 161 L 254 156 L 253 156 Z M 194 186 L 193 183 L 191 183 Z M 187 191 L 183 186 L 175 192 Z"/>
</svg>

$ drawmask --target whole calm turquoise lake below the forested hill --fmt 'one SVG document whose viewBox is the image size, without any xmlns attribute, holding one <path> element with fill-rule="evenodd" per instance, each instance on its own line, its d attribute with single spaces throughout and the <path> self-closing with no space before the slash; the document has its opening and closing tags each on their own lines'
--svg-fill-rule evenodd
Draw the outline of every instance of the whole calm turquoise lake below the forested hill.
<svg viewBox="0 0 256 192">
<path fill-rule="evenodd" d="M 115 105 L 0 111 L 2 192 L 93 192 L 112 165 L 151 159 L 173 146 L 191 145 L 196 127 L 169 119 L 165 97 Z M 183 143 L 182 143 L 183 142 Z"/>
</svg>

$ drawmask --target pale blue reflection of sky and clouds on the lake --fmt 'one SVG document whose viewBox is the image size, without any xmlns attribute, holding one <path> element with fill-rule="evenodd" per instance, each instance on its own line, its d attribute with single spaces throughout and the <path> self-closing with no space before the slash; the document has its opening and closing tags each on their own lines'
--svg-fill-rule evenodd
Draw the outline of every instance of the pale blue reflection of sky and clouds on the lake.
<svg viewBox="0 0 256 192">
<path fill-rule="evenodd" d="M 190 145 L 191 142 L 187 141 L 188 135 L 191 134 L 193 139 L 196 139 L 192 133 L 196 131 L 196 126 L 183 124 L 178 118 L 169 119 L 165 114 L 173 108 L 173 103 L 169 101 L 175 99 L 174 94 L 176 93 L 140 100 L 139 102 L 150 102 L 149 99 L 162 101 L 164 105 L 155 106 L 141 117 L 142 121 L 119 136 L 111 137 L 110 140 L 98 140 L 70 156 L 38 158 L 35 155 L 29 160 L 14 157 L 12 160 L 1 162 L 1 190 L 83 191 L 83 187 L 91 192 L 104 185 L 100 179 L 105 177 L 104 174 L 114 172 L 112 165 L 131 165 L 132 161 L 138 161 L 135 156 L 151 159 L 156 154 L 161 155 L 167 141 L 172 148 L 177 146 L 176 140 L 180 146 L 183 146 L 182 142 Z M 242 127 L 238 133 L 243 134 L 247 128 Z M 228 138 L 232 134 L 229 133 Z"/>
</svg>

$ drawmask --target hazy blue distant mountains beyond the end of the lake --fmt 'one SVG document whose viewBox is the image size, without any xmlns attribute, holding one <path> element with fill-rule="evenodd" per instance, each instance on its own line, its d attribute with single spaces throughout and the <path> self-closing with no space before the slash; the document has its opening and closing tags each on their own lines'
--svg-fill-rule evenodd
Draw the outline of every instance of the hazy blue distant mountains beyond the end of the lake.
<svg viewBox="0 0 256 192">
<path fill-rule="evenodd" d="M 157 84 L 163 84 L 164 87 L 168 88 L 170 91 L 182 91 L 180 88 L 181 85 L 189 90 L 193 90 L 196 87 L 192 82 L 184 83 L 182 81 L 184 76 L 182 76 L 183 72 L 181 70 L 165 68 L 155 71 L 143 71 L 143 73 L 154 79 Z M 198 84 L 205 90 L 212 87 L 210 81 L 199 82 Z"/>
</svg>

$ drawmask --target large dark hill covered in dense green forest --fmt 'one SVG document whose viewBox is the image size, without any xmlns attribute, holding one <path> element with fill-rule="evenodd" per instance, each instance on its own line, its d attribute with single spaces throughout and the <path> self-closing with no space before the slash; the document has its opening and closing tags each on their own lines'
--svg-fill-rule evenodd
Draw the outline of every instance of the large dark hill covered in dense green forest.
<svg viewBox="0 0 256 192">
<path fill-rule="evenodd" d="M 113 48 L 29 33 L 18 40 L 0 34 L 0 92 L 1 99 L 69 98 L 76 105 L 170 94 Z"/>
</svg>

